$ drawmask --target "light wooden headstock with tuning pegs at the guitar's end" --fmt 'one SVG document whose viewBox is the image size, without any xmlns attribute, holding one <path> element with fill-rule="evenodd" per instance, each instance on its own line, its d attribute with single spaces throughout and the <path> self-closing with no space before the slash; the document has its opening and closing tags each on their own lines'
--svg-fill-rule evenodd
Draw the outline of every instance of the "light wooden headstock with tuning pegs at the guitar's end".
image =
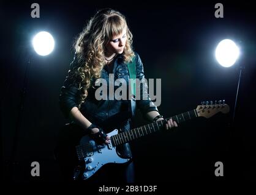
<svg viewBox="0 0 256 195">
<path fill-rule="evenodd" d="M 197 108 L 198 116 L 203 116 L 205 118 L 210 118 L 213 115 L 216 115 L 219 112 L 228 113 L 230 108 L 227 104 L 225 104 L 225 100 L 223 101 L 206 101 L 201 102 L 201 105 L 198 105 Z"/>
</svg>

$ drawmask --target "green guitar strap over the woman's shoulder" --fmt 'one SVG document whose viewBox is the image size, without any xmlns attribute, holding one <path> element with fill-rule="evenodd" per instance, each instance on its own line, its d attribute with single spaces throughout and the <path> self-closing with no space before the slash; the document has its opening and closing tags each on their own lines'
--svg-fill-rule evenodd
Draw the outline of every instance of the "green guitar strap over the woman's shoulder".
<svg viewBox="0 0 256 195">
<path fill-rule="evenodd" d="M 127 63 L 128 70 L 129 70 L 129 87 L 131 91 L 131 98 L 130 98 L 130 111 L 132 113 L 132 117 L 135 116 L 136 111 L 136 78 L 137 78 L 137 72 L 136 72 L 136 63 L 135 63 L 135 57 L 132 58 L 132 61 Z"/>
</svg>

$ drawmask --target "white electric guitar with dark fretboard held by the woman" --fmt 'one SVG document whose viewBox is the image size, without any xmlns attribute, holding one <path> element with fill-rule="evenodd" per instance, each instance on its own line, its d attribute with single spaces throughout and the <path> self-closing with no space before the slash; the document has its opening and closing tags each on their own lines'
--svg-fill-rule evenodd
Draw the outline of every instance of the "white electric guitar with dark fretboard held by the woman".
<svg viewBox="0 0 256 195">
<path fill-rule="evenodd" d="M 201 105 L 198 105 L 194 110 L 172 116 L 171 118 L 178 124 L 180 122 L 197 118 L 199 116 L 210 118 L 219 112 L 228 113 L 229 110 L 230 108 L 227 104 L 225 104 L 225 101 L 219 101 L 218 103 L 215 101 L 215 104 L 213 104 L 212 101 L 206 101 L 202 102 Z M 102 166 L 108 163 L 126 163 L 130 159 L 119 157 L 118 153 L 116 152 L 116 146 L 163 130 L 165 122 L 168 119 L 170 118 L 152 122 L 151 124 L 147 124 L 145 126 L 131 129 L 122 133 L 118 133 L 118 129 L 115 129 L 110 133 L 107 133 L 107 135 L 110 137 L 109 144 L 97 144 L 88 135 L 83 135 L 82 137 L 78 138 L 77 142 L 79 145 L 73 148 L 73 151 L 75 151 L 75 158 L 78 159 L 78 165 L 75 166 L 73 171 L 73 180 L 87 180 L 93 176 L 100 168 L 102 168 Z M 64 150 L 64 153 L 62 154 L 64 158 L 66 157 L 66 160 L 70 158 L 67 151 Z M 62 158 L 62 160 L 65 159 Z"/>
</svg>

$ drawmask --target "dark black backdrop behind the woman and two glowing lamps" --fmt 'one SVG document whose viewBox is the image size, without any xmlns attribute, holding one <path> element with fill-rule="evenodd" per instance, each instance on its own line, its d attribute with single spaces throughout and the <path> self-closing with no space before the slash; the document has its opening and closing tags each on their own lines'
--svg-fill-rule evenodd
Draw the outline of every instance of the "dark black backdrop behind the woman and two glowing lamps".
<svg viewBox="0 0 256 195">
<path fill-rule="evenodd" d="M 146 78 L 162 79 L 162 115 L 187 112 L 201 101 L 225 99 L 230 105 L 227 115 L 197 118 L 180 124 L 175 132 L 134 141 L 136 182 L 255 182 L 256 12 L 252 2 L 37 1 L 40 18 L 31 18 L 33 2 L 0 3 L 3 180 L 60 181 L 53 147 L 59 127 L 68 122 L 59 110 L 58 96 L 73 59 L 73 40 L 98 9 L 111 7 L 127 17 Z M 217 2 L 224 5 L 224 18 L 214 17 Z M 46 57 L 31 48 L 32 36 L 40 30 L 55 38 L 55 50 Z M 214 57 L 217 43 L 225 38 L 236 41 L 242 52 L 231 68 L 223 68 Z M 20 115 L 29 52 L 31 67 Z M 245 69 L 232 123 L 240 65 Z M 146 123 L 138 112 L 134 127 Z M 10 171 L 13 142 L 16 164 Z M 32 161 L 40 163 L 40 177 L 31 177 Z M 224 177 L 214 175 L 216 161 L 224 163 Z"/>
</svg>

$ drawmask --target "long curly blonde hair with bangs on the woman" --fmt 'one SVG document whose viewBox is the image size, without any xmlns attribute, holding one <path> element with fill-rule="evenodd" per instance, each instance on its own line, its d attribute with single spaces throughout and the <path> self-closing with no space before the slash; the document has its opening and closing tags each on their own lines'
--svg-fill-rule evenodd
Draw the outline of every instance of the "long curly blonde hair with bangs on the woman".
<svg viewBox="0 0 256 195">
<path fill-rule="evenodd" d="M 79 68 L 73 71 L 71 77 L 78 83 L 80 104 L 88 96 L 88 88 L 92 79 L 100 78 L 105 65 L 104 49 L 108 41 L 126 29 L 127 41 L 122 57 L 124 62 L 130 62 L 134 57 L 132 49 L 132 33 L 127 26 L 126 18 L 120 12 L 112 9 L 99 10 L 79 34 L 74 48 L 78 57 Z"/>
</svg>

